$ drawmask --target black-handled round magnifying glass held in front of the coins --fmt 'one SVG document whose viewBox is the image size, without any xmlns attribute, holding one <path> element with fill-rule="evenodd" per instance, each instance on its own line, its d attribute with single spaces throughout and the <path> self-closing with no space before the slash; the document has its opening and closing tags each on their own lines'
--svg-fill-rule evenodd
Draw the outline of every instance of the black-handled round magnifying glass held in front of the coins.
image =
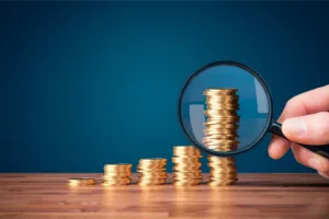
<svg viewBox="0 0 329 219">
<path fill-rule="evenodd" d="M 217 61 L 198 69 L 185 82 L 178 111 L 186 138 L 212 155 L 248 151 L 269 131 L 286 138 L 272 119 L 266 83 L 243 64 Z M 329 159 L 329 145 L 298 145 Z"/>
</svg>

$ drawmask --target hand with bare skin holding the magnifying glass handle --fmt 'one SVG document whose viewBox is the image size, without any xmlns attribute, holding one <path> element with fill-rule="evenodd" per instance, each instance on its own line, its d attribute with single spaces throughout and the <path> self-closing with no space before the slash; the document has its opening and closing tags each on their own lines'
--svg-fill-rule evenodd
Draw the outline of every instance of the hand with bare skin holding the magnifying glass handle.
<svg viewBox="0 0 329 219">
<path fill-rule="evenodd" d="M 277 160 L 292 148 L 297 162 L 329 180 L 329 159 L 297 145 L 329 145 L 329 84 L 291 99 L 277 122 L 282 123 L 282 131 L 291 141 L 273 136 L 270 157 Z"/>
</svg>

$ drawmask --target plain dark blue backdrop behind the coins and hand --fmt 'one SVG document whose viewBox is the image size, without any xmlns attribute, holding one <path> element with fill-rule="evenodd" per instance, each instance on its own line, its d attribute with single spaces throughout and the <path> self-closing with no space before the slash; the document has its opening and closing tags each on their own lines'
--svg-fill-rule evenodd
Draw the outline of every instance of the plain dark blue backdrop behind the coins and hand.
<svg viewBox="0 0 329 219">
<path fill-rule="evenodd" d="M 329 81 L 326 1 L 0 5 L 1 172 L 102 172 L 105 163 L 170 159 L 173 146 L 189 145 L 180 90 L 212 61 L 260 72 L 275 117 L 288 99 Z M 310 171 L 291 152 L 271 160 L 269 141 L 237 158 L 239 172 Z"/>
</svg>

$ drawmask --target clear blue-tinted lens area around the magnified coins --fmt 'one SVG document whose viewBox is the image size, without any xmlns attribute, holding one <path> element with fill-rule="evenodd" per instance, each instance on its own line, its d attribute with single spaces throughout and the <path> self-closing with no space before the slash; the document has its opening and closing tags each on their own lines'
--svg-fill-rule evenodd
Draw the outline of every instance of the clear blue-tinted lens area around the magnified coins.
<svg viewBox="0 0 329 219">
<path fill-rule="evenodd" d="M 227 88 L 237 89 L 238 95 L 239 120 L 236 124 L 239 126 L 237 129 L 239 143 L 237 150 L 254 145 L 254 141 L 268 128 L 271 99 L 260 81 L 242 68 L 231 65 L 214 66 L 194 77 L 181 97 L 182 125 L 189 137 L 200 147 L 212 148 L 203 143 L 206 137 L 205 123 L 208 118 L 205 115 L 208 108 L 204 91 Z M 220 132 L 220 129 L 218 131 Z M 216 136 L 213 137 L 216 138 Z"/>
</svg>

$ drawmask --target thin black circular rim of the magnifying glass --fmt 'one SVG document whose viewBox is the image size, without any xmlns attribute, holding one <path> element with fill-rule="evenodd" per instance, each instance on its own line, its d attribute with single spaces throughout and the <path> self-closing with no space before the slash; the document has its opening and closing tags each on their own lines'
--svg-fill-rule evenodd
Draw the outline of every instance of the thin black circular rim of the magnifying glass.
<svg viewBox="0 0 329 219">
<path fill-rule="evenodd" d="M 186 88 L 189 87 L 190 82 L 195 78 L 197 77 L 200 73 L 202 73 L 203 71 L 205 71 L 206 69 L 209 69 L 209 68 L 213 68 L 213 67 L 216 67 L 216 66 L 234 66 L 234 67 L 238 67 L 238 68 L 241 68 L 246 71 L 248 71 L 249 73 L 251 73 L 254 78 L 258 79 L 258 81 L 262 84 L 265 93 L 266 93 L 266 96 L 269 97 L 269 103 L 268 103 L 268 107 L 269 107 L 269 115 L 268 115 L 268 120 L 266 120 L 266 125 L 265 125 L 265 128 L 262 130 L 262 132 L 258 136 L 258 138 L 256 138 L 251 143 L 249 143 L 247 147 L 243 147 L 243 148 L 240 148 L 236 151 L 227 151 L 227 152 L 223 152 L 223 151 L 213 151 L 197 142 L 195 142 L 191 137 L 190 135 L 188 134 L 188 130 L 185 129 L 184 125 L 183 125 L 183 119 L 182 119 L 182 116 L 181 116 L 181 112 L 182 112 L 182 107 L 181 107 L 181 103 L 182 103 L 182 99 L 183 99 L 183 95 L 185 93 L 185 90 Z M 259 141 L 261 141 L 264 137 L 264 135 L 268 132 L 268 129 L 269 127 L 271 126 L 272 124 L 272 116 L 273 116 L 273 104 L 272 104 L 272 95 L 271 95 L 271 92 L 270 92 L 270 89 L 268 87 L 268 84 L 265 83 L 265 81 L 263 80 L 263 78 L 257 73 L 257 71 L 254 71 L 253 69 L 249 68 L 248 66 L 241 64 L 241 62 L 237 62 L 237 61 L 231 61 L 231 60 L 222 60 L 222 61 L 214 61 L 214 62 L 211 62 L 206 66 L 203 66 L 202 68 L 200 68 L 198 70 L 196 70 L 192 76 L 190 76 L 190 78 L 185 81 L 182 90 L 181 90 L 181 93 L 180 93 L 180 97 L 179 97 L 179 104 L 178 104 L 178 116 L 179 116 L 179 123 L 180 123 L 180 126 L 182 127 L 183 129 L 183 132 L 185 135 L 185 137 L 192 141 L 192 143 L 194 143 L 194 146 L 196 146 L 197 148 L 200 148 L 201 150 L 212 154 L 212 155 L 216 155 L 216 157 L 232 157 L 232 155 L 237 155 L 239 153 L 242 153 L 242 152 L 246 152 L 247 150 L 249 149 L 252 149 L 253 147 L 257 146 L 257 143 Z"/>
</svg>

